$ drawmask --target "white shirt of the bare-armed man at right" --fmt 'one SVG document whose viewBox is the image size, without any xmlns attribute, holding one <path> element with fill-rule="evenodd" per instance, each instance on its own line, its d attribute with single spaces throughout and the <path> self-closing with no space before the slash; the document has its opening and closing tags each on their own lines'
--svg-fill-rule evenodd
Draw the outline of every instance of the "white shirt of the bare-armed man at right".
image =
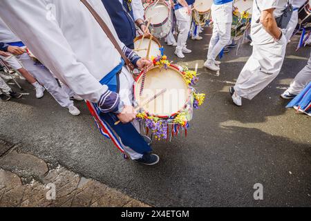
<svg viewBox="0 0 311 221">
<path fill-rule="evenodd" d="M 274 8 L 274 17 L 280 17 L 282 15 L 282 10 L 284 10 L 288 4 L 288 0 L 257 0 L 257 3 L 261 12 L 263 10 Z M 256 1 L 254 0 L 251 29 L 252 41 L 254 44 L 273 43 L 274 38 L 272 35 L 263 28 L 263 25 L 260 22 L 256 23 L 261 17 L 261 12 L 258 10 Z"/>
</svg>

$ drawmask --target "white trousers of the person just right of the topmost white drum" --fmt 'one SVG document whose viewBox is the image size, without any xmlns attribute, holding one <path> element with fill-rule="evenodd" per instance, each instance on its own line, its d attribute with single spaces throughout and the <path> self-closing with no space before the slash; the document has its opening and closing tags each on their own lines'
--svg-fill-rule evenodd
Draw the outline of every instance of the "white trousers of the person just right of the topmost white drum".
<svg viewBox="0 0 311 221">
<path fill-rule="evenodd" d="M 180 8 L 178 10 L 175 10 L 175 16 L 179 30 L 176 49 L 182 50 L 183 48 L 187 47 L 187 39 L 191 28 L 192 15 L 187 14 L 186 8 Z"/>
</svg>

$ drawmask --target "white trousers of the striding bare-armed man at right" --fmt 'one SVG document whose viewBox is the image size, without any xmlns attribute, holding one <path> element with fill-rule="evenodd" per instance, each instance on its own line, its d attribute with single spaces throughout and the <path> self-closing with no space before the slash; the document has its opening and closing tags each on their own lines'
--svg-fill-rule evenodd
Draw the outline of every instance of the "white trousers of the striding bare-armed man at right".
<svg viewBox="0 0 311 221">
<path fill-rule="evenodd" d="M 253 99 L 279 75 L 286 49 L 286 38 L 272 44 L 254 44 L 253 53 L 238 76 L 234 90 L 241 97 Z"/>
</svg>

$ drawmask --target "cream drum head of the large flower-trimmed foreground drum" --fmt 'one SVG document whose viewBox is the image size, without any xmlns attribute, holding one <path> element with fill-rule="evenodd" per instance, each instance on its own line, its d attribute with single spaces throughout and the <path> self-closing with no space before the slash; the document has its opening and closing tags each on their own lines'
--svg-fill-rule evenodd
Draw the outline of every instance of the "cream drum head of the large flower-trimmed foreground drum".
<svg viewBox="0 0 311 221">
<path fill-rule="evenodd" d="M 138 104 L 143 105 L 151 97 L 163 89 L 167 91 L 154 99 L 149 104 L 142 106 L 144 111 L 158 117 L 168 117 L 178 113 L 189 98 L 189 88 L 179 70 L 173 67 L 149 70 L 144 81 L 144 90 L 140 96 L 142 75 L 138 77 L 135 85 L 135 99 Z"/>
</svg>

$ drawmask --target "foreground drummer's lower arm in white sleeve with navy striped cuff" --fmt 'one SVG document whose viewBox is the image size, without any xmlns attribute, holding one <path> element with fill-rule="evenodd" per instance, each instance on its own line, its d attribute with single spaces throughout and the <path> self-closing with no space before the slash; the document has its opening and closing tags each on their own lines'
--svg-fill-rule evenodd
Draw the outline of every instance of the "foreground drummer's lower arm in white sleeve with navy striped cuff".
<svg viewBox="0 0 311 221">
<path fill-rule="evenodd" d="M 106 112 L 117 111 L 120 95 L 110 93 L 77 60 L 57 21 L 46 19 L 46 15 L 45 1 L 0 1 L 3 21 L 57 78 Z"/>
</svg>

